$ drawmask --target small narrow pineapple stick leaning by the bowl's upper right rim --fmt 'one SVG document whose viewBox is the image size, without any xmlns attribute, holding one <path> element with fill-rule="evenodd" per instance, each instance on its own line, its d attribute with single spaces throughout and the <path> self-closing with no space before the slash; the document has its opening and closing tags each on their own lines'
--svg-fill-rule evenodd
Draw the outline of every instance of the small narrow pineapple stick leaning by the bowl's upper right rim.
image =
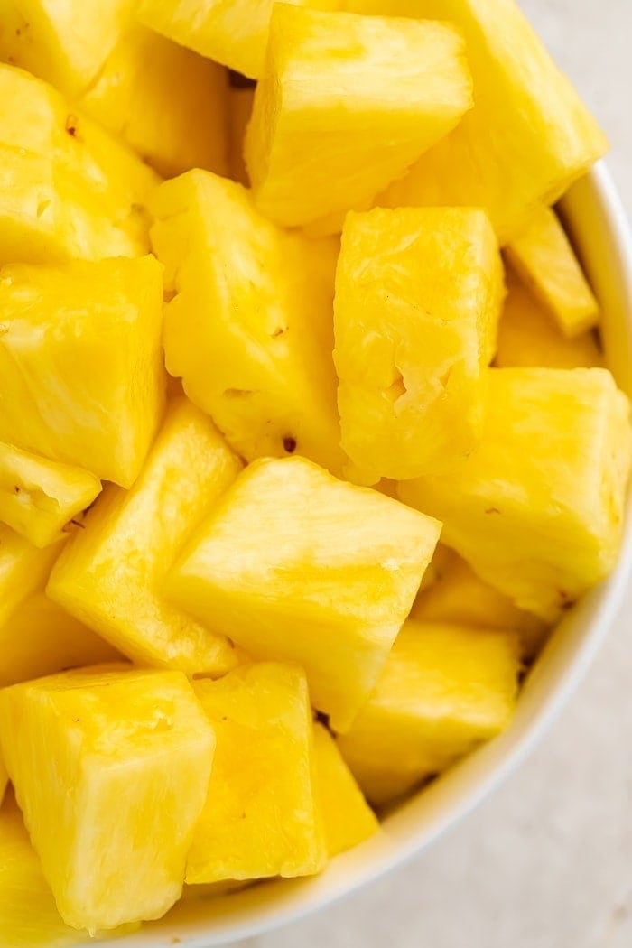
<svg viewBox="0 0 632 948">
<path fill-rule="evenodd" d="M 565 336 L 579 336 L 597 324 L 599 306 L 554 210 L 537 210 L 506 254 Z"/>
</svg>

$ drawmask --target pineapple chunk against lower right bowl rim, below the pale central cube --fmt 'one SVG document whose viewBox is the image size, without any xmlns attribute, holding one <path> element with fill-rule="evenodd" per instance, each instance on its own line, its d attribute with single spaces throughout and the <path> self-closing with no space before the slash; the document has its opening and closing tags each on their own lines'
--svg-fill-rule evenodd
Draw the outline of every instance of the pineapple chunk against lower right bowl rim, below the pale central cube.
<svg viewBox="0 0 632 948">
<path fill-rule="evenodd" d="M 338 746 L 376 806 L 440 773 L 512 719 L 520 667 L 513 632 L 408 620 Z"/>
</svg>

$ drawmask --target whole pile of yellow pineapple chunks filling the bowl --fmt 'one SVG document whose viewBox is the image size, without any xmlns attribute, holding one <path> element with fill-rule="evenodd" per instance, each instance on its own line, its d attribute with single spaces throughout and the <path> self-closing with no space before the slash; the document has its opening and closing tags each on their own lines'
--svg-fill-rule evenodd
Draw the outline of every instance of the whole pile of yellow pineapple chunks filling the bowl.
<svg viewBox="0 0 632 948">
<path fill-rule="evenodd" d="M 514 0 L 13 0 L 0 58 L 0 941 L 66 944 L 502 731 L 632 442 Z"/>
</svg>

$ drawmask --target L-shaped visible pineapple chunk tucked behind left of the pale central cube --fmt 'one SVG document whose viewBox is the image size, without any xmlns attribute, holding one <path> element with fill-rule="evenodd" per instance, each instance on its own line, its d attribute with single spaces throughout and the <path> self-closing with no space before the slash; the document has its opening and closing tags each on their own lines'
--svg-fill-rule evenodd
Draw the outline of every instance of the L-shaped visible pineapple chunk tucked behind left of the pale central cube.
<svg viewBox="0 0 632 948">
<path fill-rule="evenodd" d="M 141 664 L 225 672 L 235 649 L 167 602 L 163 585 L 185 538 L 241 466 L 201 411 L 173 401 L 134 487 L 106 489 L 67 544 L 50 597 Z"/>
</svg>

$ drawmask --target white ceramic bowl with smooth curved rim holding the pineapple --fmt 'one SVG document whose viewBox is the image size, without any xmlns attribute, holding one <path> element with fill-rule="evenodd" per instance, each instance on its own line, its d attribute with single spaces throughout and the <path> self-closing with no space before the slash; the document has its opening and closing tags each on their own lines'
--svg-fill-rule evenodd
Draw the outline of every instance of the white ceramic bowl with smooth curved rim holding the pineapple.
<svg viewBox="0 0 632 948">
<path fill-rule="evenodd" d="M 562 211 L 603 306 L 608 364 L 632 394 L 632 239 L 603 163 L 571 189 Z M 377 836 L 336 857 L 315 879 L 182 902 L 162 921 L 126 939 L 100 942 L 101 948 L 211 948 L 258 935 L 343 898 L 429 847 L 497 787 L 550 726 L 601 645 L 631 566 L 628 510 L 617 570 L 555 631 L 525 684 L 510 730 L 392 812 Z"/>
</svg>

